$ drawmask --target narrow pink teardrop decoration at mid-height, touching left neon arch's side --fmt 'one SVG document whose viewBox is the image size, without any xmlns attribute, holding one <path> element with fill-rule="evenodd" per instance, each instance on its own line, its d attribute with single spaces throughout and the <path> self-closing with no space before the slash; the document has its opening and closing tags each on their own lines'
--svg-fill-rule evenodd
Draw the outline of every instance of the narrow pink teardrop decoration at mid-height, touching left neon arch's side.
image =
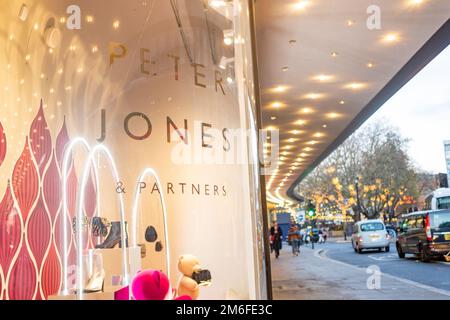
<svg viewBox="0 0 450 320">
<path fill-rule="evenodd" d="M 61 176 L 59 175 L 55 153 L 53 153 L 52 161 L 44 177 L 44 198 L 53 224 L 61 205 Z"/>
</svg>

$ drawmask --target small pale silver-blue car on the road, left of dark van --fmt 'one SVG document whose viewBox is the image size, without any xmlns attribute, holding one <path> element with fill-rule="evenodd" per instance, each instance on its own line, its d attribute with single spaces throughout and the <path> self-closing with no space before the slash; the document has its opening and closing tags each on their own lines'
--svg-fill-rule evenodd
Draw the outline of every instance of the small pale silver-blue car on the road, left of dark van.
<svg viewBox="0 0 450 320">
<path fill-rule="evenodd" d="M 352 247 L 357 253 L 361 253 L 363 249 L 384 249 L 389 252 L 389 235 L 383 221 L 374 219 L 355 223 Z"/>
</svg>

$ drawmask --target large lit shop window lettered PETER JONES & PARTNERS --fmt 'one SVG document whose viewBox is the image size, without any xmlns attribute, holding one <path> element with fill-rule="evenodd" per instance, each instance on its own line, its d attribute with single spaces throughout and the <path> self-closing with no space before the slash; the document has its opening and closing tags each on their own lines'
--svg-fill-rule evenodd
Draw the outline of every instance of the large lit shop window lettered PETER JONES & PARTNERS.
<svg viewBox="0 0 450 320">
<path fill-rule="evenodd" d="M 248 2 L 1 6 L 0 299 L 266 298 Z"/>
</svg>

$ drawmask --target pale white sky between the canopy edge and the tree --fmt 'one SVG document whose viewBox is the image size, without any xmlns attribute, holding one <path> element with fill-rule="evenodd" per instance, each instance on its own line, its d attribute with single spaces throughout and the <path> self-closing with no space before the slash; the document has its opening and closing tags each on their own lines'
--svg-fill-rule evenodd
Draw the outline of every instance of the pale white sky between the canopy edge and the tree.
<svg viewBox="0 0 450 320">
<path fill-rule="evenodd" d="M 447 172 L 444 140 L 450 140 L 450 46 L 422 69 L 369 120 L 387 119 L 409 138 L 414 164 Z"/>
</svg>

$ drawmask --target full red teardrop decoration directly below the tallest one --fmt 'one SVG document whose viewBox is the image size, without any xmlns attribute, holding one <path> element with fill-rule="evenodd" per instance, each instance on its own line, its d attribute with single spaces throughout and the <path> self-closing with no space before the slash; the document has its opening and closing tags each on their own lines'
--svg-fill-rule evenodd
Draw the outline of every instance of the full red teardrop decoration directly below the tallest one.
<svg viewBox="0 0 450 320">
<path fill-rule="evenodd" d="M 45 211 L 42 195 L 30 216 L 27 229 L 28 244 L 36 260 L 38 271 L 41 269 L 42 260 L 48 249 L 51 239 L 51 224 Z"/>
</svg>

